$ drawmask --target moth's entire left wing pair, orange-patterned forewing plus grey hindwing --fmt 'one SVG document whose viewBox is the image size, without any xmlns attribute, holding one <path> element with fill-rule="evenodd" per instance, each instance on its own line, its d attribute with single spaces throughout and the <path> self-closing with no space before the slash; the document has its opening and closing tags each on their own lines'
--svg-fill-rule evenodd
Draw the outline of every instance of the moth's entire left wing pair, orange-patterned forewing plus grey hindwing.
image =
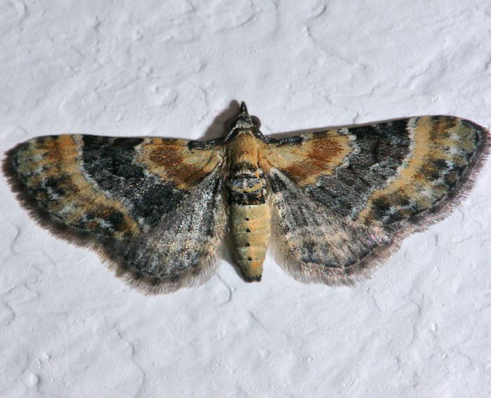
<svg viewBox="0 0 491 398">
<path fill-rule="evenodd" d="M 225 225 L 222 164 L 213 143 L 51 135 L 9 151 L 4 172 L 42 225 L 160 293 L 210 275 Z"/>
</svg>

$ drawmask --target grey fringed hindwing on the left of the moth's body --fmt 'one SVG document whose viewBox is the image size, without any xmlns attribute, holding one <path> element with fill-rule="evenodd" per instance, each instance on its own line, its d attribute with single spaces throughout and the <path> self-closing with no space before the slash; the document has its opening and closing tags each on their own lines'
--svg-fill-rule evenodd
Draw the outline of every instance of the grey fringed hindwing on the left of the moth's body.
<svg viewBox="0 0 491 398">
<path fill-rule="evenodd" d="M 222 169 L 215 168 L 149 233 L 116 242 L 116 274 L 150 293 L 206 281 L 227 225 L 222 187 Z"/>
</svg>

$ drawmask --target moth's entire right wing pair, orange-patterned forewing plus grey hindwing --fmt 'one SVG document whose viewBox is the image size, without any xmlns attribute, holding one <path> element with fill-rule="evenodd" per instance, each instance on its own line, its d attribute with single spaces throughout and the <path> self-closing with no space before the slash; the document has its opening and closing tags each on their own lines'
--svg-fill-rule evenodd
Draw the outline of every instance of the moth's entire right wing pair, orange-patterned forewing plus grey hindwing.
<svg viewBox="0 0 491 398">
<path fill-rule="evenodd" d="M 406 234 L 445 216 L 488 151 L 484 128 L 445 116 L 271 141 L 263 168 L 287 270 L 328 284 L 363 277 Z"/>
</svg>

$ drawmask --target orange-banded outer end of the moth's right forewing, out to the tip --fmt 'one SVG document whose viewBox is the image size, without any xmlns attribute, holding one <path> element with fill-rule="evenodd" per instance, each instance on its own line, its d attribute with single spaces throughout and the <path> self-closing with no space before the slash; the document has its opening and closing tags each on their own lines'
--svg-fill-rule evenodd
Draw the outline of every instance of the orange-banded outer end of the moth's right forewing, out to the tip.
<svg viewBox="0 0 491 398">
<path fill-rule="evenodd" d="M 408 119 L 410 153 L 398 173 L 351 214 L 398 236 L 445 217 L 473 186 L 490 150 L 488 131 L 456 117 Z"/>
</svg>

